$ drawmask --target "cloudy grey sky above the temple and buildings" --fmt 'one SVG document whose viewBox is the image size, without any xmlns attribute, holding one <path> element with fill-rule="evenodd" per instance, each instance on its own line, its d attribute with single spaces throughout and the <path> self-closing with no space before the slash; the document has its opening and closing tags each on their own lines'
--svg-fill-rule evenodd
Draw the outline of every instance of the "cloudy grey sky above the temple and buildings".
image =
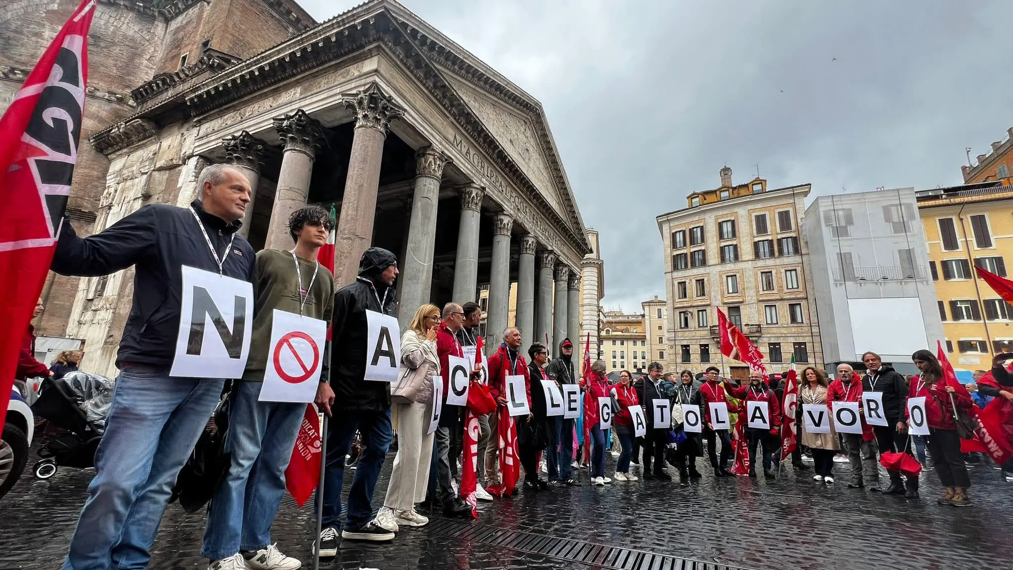
<svg viewBox="0 0 1013 570">
<path fill-rule="evenodd" d="M 933 188 L 1013 127 L 1007 0 L 402 3 L 542 102 L 607 308 L 664 297 L 654 217 L 725 163 L 813 195 Z"/>
</svg>

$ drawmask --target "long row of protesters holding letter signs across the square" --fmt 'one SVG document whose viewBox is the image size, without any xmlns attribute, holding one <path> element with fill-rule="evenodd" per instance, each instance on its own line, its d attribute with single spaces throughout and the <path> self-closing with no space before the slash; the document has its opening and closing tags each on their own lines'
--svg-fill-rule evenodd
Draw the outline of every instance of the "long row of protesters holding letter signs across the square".
<svg viewBox="0 0 1013 570">
<path fill-rule="evenodd" d="M 136 267 L 134 306 L 118 357 L 121 375 L 65 569 L 143 568 L 148 564 L 176 474 L 225 391 L 231 399 L 227 426 L 231 454 L 226 474 L 211 495 L 202 553 L 211 570 L 301 567 L 299 560 L 282 553 L 270 540 L 305 411 L 305 404 L 258 398 L 277 311 L 324 320 L 330 327 L 332 350 L 329 360 L 324 360 L 315 398 L 320 412 L 329 418 L 322 452 L 323 491 L 318 497 L 322 531 L 315 542 L 322 557 L 335 556 L 341 540 L 385 542 L 394 539 L 401 526 L 425 525 L 428 517 L 419 511 L 473 516 L 475 499 L 493 500 L 493 495 L 516 490 L 516 481 L 504 480 L 520 469 L 524 471 L 522 492 L 543 492 L 585 483 L 596 487 L 635 483 L 641 478 L 670 481 L 670 466 L 681 480 L 696 479 L 702 477 L 697 465 L 701 457 L 706 457 L 716 478 L 731 473 L 757 477 L 759 467 L 765 478 L 775 479 L 782 455 L 786 461 L 790 454 L 793 468 L 799 471 L 810 469 L 803 457 L 811 457 L 812 479 L 830 485 L 835 483 L 836 456 L 844 453 L 851 468 L 848 487 L 870 487 L 917 499 L 917 471 L 889 469 L 888 483 L 882 485 L 879 464 L 884 453 L 914 453 L 928 469 L 925 451 L 919 449 L 924 440 L 931 467 L 945 488 L 938 502 L 968 506 L 970 482 L 958 435 L 960 412 L 976 403 L 987 405 L 986 399 L 1013 402 L 1013 376 L 1000 360 L 991 371 L 992 379 L 976 378 L 979 381 L 971 394 L 943 373 L 929 351 L 913 355 L 921 373 L 910 378 L 869 352 L 862 359 L 864 375 L 842 364 L 829 381 L 824 370 L 803 369 L 797 399 L 806 405 L 853 402 L 861 406 L 863 391 L 878 391 L 888 425 L 873 427 L 863 418 L 860 434 L 838 434 L 833 426 L 829 433 L 815 433 L 801 421 L 801 407 L 797 407 L 793 435 L 798 444 L 782 453 L 782 424 L 792 425 L 792 418 L 782 412 L 788 389 L 782 378 L 752 371 L 747 381 L 731 381 L 721 378 L 713 366 L 699 378 L 691 370 L 666 374 L 654 362 L 646 376 L 623 371 L 612 384 L 604 362 L 590 366 L 574 362 L 569 339 L 557 347 L 554 358 L 550 358 L 550 348 L 538 342 L 530 344 L 524 354 L 525 332 L 513 327 L 501 333 L 496 346 L 478 352 L 476 327 L 482 314 L 474 302 L 400 307 L 401 311 L 413 310 L 414 317 L 400 339 L 400 372 L 392 389 L 388 382 L 365 378 L 368 313 L 391 315 L 397 310 L 395 256 L 370 247 L 362 256 L 358 278 L 332 294 L 333 277 L 317 262 L 318 251 L 333 226 L 328 212 L 318 207 L 297 210 L 289 220 L 293 248 L 254 255 L 239 235 L 250 200 L 245 176 L 230 166 L 211 165 L 202 171 L 199 190 L 201 196 L 189 208 L 144 206 L 86 238 L 64 224 L 54 271 L 98 276 Z M 232 381 L 231 387 L 224 378 L 171 373 L 185 306 L 180 294 L 182 266 L 253 286 L 250 356 L 241 378 Z M 24 352 L 31 352 L 30 331 Z M 484 373 L 482 352 L 488 355 Z M 80 356 L 62 354 L 52 371 L 29 362 L 23 373 L 62 375 L 76 369 Z M 450 359 L 469 356 L 474 363 L 468 371 L 469 384 L 487 393 L 492 408 L 477 417 L 472 417 L 470 402 L 468 407 L 446 404 Z M 29 364 L 37 370 L 28 369 Z M 518 398 L 515 390 L 508 390 L 508 378 L 519 376 L 526 386 L 521 398 L 527 400 L 527 414 L 518 415 L 515 424 L 503 420 L 506 407 L 514 404 L 510 399 Z M 549 415 L 542 389 L 546 382 L 560 389 L 578 386 L 585 402 L 578 418 Z M 925 398 L 930 434 L 912 438 L 906 402 L 920 397 Z M 611 401 L 611 418 L 606 417 L 605 408 L 587 405 L 602 399 Z M 647 403 L 659 400 L 671 403 L 671 421 L 658 424 Z M 762 404 L 769 411 L 770 425 L 722 429 L 728 424 L 711 417 L 710 404 L 715 403 L 726 406 L 727 419 L 738 427 L 744 422 L 737 417 L 746 415 L 751 404 Z M 436 407 L 441 412 L 434 426 L 431 418 L 436 418 Z M 689 416 L 685 411 L 694 407 L 702 420 L 699 432 L 684 429 L 684 421 L 689 421 L 684 413 Z M 639 436 L 638 418 L 646 424 L 640 426 Z M 612 433 L 619 449 L 609 477 L 606 457 Z M 346 508 L 342 508 L 345 458 L 357 434 L 361 451 Z M 397 452 L 390 481 L 383 507 L 374 515 L 377 482 L 395 435 Z M 462 488 L 463 472 L 472 470 L 458 467 L 468 457 L 474 461 L 477 479 L 473 490 Z M 729 471 L 733 458 L 735 466 Z M 547 479 L 540 475 L 543 465 Z M 580 469 L 585 465 L 590 468 L 587 472 Z M 631 469 L 637 465 L 638 471 Z"/>
</svg>

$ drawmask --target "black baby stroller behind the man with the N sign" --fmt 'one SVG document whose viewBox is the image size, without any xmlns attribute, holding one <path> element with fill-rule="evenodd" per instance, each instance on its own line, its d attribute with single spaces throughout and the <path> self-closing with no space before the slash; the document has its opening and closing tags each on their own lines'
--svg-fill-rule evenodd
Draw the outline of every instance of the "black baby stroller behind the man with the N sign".
<svg viewBox="0 0 1013 570">
<path fill-rule="evenodd" d="M 59 380 L 43 380 L 31 411 L 36 418 L 59 429 L 37 451 L 42 459 L 33 469 L 36 479 L 53 477 L 60 466 L 95 467 L 95 449 L 112 406 L 113 386 L 109 378 L 85 372 L 69 372 Z M 54 430 L 45 431 L 49 434 Z"/>
</svg>

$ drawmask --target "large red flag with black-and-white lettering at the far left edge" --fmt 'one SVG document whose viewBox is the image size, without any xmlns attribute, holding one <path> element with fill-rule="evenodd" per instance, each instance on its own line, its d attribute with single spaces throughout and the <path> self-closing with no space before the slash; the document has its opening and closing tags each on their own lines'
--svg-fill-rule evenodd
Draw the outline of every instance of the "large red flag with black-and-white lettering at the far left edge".
<svg viewBox="0 0 1013 570">
<path fill-rule="evenodd" d="M 74 10 L 0 118 L 0 417 L 70 196 L 94 13 L 95 0 Z"/>
</svg>

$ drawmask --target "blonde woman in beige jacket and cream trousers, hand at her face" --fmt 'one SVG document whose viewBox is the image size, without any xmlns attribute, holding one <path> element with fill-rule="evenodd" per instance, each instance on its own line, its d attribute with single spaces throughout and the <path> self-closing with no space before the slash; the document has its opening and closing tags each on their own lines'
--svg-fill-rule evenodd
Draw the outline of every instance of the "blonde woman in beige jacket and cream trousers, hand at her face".
<svg viewBox="0 0 1013 570">
<path fill-rule="evenodd" d="M 391 390 L 391 423 L 397 432 L 397 455 L 387 497 L 377 513 L 377 520 L 384 528 L 422 526 L 430 522 L 415 512 L 415 503 L 425 499 L 430 481 L 433 434 L 427 432 L 435 404 L 433 379 L 440 374 L 439 326 L 440 308 L 423 304 L 401 337 L 401 373 Z"/>
</svg>

